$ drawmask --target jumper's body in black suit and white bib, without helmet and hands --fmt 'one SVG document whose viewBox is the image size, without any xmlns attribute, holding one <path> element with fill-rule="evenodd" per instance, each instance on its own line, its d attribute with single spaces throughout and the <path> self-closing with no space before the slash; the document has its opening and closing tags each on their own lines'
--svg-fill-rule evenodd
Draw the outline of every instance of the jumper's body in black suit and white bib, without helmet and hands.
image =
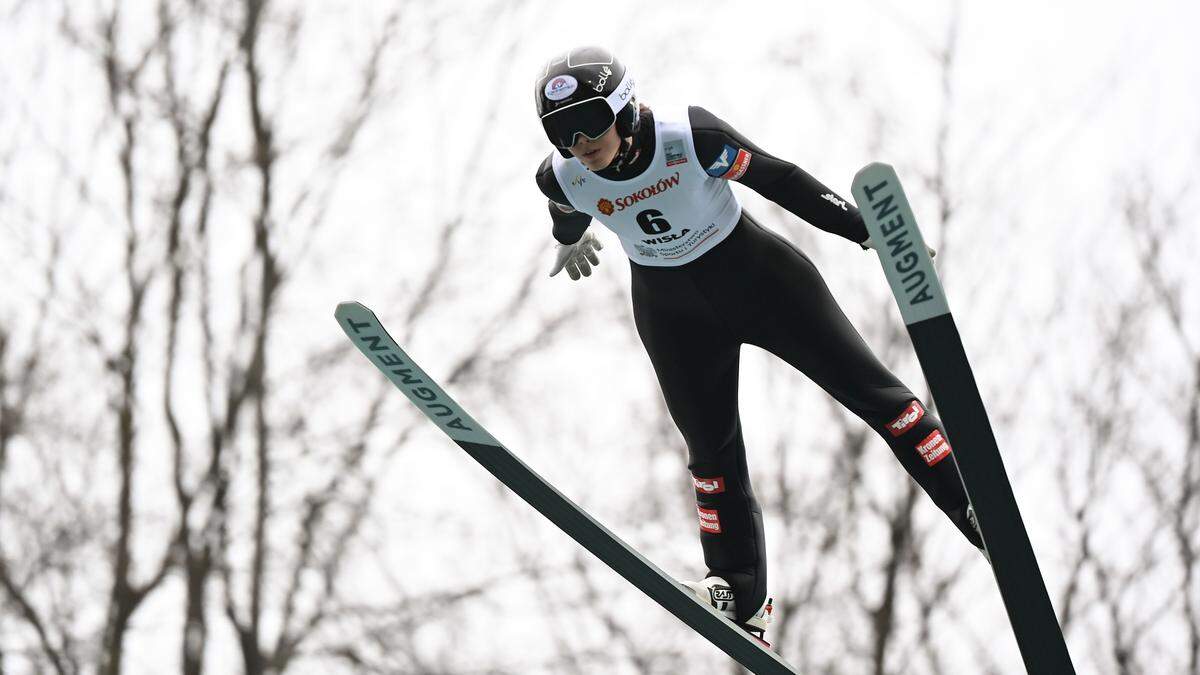
<svg viewBox="0 0 1200 675">
<path fill-rule="evenodd" d="M 551 154 L 538 172 L 563 244 L 592 219 L 620 239 L 632 269 L 637 333 L 688 446 L 709 575 L 734 589 L 738 621 L 767 597 L 762 509 L 738 416 L 740 346 L 780 357 L 862 418 L 976 546 L 967 496 L 941 422 L 871 352 L 798 247 L 746 214 L 738 180 L 854 243 L 858 210 L 799 167 L 703 108 L 642 110 L 630 154 L 593 173 Z"/>
</svg>

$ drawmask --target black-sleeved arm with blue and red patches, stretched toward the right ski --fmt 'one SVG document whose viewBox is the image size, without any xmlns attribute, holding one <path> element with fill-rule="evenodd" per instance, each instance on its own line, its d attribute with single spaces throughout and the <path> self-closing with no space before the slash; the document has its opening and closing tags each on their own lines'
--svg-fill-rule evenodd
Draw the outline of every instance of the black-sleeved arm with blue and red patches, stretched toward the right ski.
<svg viewBox="0 0 1200 675">
<path fill-rule="evenodd" d="M 804 221 L 862 245 L 863 216 L 800 167 L 763 151 L 700 106 L 689 106 L 696 157 L 709 175 L 737 180 Z"/>
</svg>

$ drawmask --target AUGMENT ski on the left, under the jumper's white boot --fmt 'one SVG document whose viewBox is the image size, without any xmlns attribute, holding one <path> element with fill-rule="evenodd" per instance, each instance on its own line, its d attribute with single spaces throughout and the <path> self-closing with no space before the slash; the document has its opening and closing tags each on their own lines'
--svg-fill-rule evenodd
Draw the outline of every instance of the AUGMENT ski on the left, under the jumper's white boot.
<svg viewBox="0 0 1200 675">
<path fill-rule="evenodd" d="M 347 338 L 413 405 L 472 459 L 580 545 L 751 673 L 797 673 L 779 655 L 763 649 L 752 637 L 712 605 L 702 603 L 686 586 L 659 569 L 526 466 L 400 348 L 374 312 L 359 303 L 348 301 L 337 305 L 335 317 Z"/>
</svg>

